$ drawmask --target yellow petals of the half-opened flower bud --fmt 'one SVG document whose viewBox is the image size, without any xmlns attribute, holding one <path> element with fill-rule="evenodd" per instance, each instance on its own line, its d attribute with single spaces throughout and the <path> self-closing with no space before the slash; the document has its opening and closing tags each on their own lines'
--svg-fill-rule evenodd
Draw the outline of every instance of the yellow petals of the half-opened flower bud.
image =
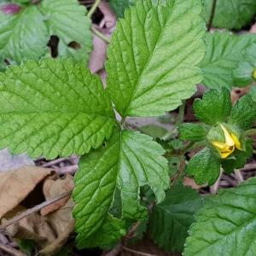
<svg viewBox="0 0 256 256">
<path fill-rule="evenodd" d="M 224 131 L 225 142 L 212 141 L 212 145 L 221 154 L 221 158 L 227 158 L 236 149 L 241 150 L 241 143 L 236 135 L 228 131 L 224 125 L 220 125 L 221 129 Z"/>
</svg>

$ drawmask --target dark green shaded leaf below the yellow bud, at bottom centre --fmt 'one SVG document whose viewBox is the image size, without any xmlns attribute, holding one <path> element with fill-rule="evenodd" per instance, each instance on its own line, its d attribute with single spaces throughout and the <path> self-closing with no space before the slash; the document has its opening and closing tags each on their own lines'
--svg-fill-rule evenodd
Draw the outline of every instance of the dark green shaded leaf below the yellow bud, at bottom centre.
<svg viewBox="0 0 256 256">
<path fill-rule="evenodd" d="M 201 196 L 194 189 L 177 184 L 166 191 L 166 199 L 153 208 L 150 237 L 170 252 L 182 252 L 195 212 L 202 207 Z"/>
</svg>

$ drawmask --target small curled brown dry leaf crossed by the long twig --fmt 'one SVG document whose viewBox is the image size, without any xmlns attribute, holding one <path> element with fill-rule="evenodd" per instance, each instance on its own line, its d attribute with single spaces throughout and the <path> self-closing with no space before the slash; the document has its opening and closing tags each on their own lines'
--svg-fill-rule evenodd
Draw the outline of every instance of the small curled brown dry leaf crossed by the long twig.
<svg viewBox="0 0 256 256">
<path fill-rule="evenodd" d="M 72 190 L 74 187 L 73 184 L 73 177 L 71 175 L 65 176 L 64 178 L 59 178 L 56 179 L 52 177 L 48 177 L 44 181 L 44 186 L 43 186 L 43 192 L 44 192 L 44 197 L 46 200 L 50 200 L 54 198 L 57 195 L 61 195 L 67 191 Z M 63 207 L 70 196 L 67 196 L 63 198 L 61 201 L 57 201 L 54 204 L 49 205 L 48 207 L 44 207 L 41 210 L 41 215 L 47 215 L 49 212 L 54 212 L 58 210 L 60 207 Z"/>
</svg>

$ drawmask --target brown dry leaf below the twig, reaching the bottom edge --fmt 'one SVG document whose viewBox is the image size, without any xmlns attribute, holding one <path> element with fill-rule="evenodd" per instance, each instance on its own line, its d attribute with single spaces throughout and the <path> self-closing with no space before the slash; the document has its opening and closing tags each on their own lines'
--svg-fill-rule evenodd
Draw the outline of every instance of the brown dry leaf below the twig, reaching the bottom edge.
<svg viewBox="0 0 256 256">
<path fill-rule="evenodd" d="M 66 243 L 74 227 L 73 207 L 74 202 L 70 198 L 65 206 L 47 215 L 48 222 L 53 230 L 55 230 L 57 237 L 40 251 L 41 254 L 53 255 Z"/>
</svg>

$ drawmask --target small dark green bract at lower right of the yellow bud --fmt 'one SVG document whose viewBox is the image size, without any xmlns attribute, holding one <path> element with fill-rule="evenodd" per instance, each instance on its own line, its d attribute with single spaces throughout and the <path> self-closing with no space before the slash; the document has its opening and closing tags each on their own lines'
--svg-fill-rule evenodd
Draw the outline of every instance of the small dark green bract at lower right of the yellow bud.
<svg viewBox="0 0 256 256">
<path fill-rule="evenodd" d="M 246 165 L 247 160 L 253 155 L 253 141 L 247 139 L 245 141 L 245 151 L 235 150 L 233 154 L 226 160 L 222 161 L 224 172 L 231 173 L 236 169 L 240 169 Z"/>
</svg>

